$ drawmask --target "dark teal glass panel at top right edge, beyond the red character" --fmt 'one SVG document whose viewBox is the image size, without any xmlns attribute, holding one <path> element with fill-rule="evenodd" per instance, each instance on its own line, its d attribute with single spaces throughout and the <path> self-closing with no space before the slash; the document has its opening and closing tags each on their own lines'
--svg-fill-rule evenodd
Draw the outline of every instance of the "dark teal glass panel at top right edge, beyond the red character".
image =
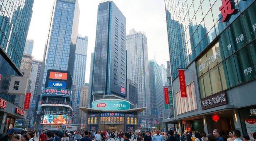
<svg viewBox="0 0 256 141">
<path fill-rule="evenodd" d="M 242 1 L 246 2 L 246 1 Z M 242 14 L 243 26 L 245 27 L 245 33 L 248 41 L 252 41 L 256 38 L 256 3 L 253 3 L 245 12 Z"/>
</svg>

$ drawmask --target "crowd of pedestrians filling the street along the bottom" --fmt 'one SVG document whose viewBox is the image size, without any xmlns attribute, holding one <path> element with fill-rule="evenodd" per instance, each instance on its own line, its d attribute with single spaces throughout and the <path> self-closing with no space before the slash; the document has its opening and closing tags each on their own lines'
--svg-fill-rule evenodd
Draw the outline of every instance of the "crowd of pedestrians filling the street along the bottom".
<svg viewBox="0 0 256 141">
<path fill-rule="evenodd" d="M 241 136 L 239 130 L 228 132 L 227 138 L 223 138 L 224 133 L 218 129 L 214 129 L 213 133 L 191 131 L 184 132 L 181 136 L 174 130 L 166 132 L 146 131 L 146 132 L 123 132 L 123 131 L 70 131 L 64 132 L 60 136 L 59 133 L 51 131 L 29 131 L 22 135 L 15 133 L 13 129 L 9 129 L 7 134 L 0 134 L 0 141 L 35 141 L 35 137 L 39 137 L 39 141 L 250 141 L 248 135 Z M 253 133 L 254 141 L 256 141 L 256 132 Z"/>
</svg>

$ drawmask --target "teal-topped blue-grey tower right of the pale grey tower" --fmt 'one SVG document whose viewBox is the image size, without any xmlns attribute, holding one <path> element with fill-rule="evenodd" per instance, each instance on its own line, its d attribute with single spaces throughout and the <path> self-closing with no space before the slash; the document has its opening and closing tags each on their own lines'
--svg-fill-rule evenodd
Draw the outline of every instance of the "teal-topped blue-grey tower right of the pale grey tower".
<svg viewBox="0 0 256 141">
<path fill-rule="evenodd" d="M 164 88 L 162 78 L 162 67 L 155 60 L 149 60 L 149 88 L 151 115 L 157 112 L 158 116 L 167 117 L 164 109 Z"/>
</svg>

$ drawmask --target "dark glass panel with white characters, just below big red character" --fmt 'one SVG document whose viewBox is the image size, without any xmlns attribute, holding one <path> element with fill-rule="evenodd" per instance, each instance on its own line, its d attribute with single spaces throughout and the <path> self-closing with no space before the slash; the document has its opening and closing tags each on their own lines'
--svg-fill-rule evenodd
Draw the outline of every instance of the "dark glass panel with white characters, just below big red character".
<svg viewBox="0 0 256 141">
<path fill-rule="evenodd" d="M 243 24 L 240 17 L 228 27 L 228 33 L 234 51 L 237 51 L 247 44 L 246 34 L 243 30 Z"/>
</svg>

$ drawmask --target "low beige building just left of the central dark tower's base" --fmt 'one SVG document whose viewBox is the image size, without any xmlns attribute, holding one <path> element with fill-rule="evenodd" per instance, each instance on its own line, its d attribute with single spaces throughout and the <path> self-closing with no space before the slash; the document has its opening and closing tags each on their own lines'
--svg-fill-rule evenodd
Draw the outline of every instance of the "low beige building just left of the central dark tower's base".
<svg viewBox="0 0 256 141">
<path fill-rule="evenodd" d="M 82 86 L 80 92 L 80 99 L 79 102 L 77 103 L 77 107 L 89 107 L 88 105 L 88 97 L 89 97 L 89 84 L 86 83 L 85 86 Z M 79 109 L 79 123 L 81 125 L 86 124 L 86 114 L 83 112 L 81 109 Z"/>
</svg>

